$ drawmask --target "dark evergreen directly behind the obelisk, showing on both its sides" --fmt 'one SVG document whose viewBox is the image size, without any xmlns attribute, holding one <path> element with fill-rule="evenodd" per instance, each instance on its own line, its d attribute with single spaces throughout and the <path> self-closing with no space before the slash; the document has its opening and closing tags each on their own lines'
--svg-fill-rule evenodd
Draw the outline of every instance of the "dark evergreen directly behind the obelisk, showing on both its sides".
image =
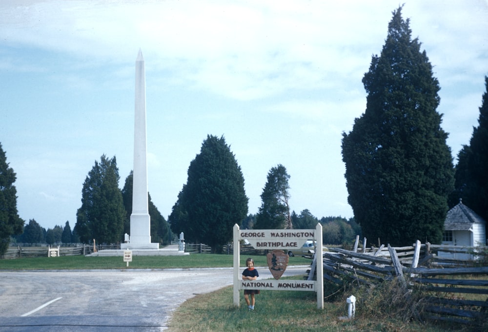
<svg viewBox="0 0 488 332">
<path fill-rule="evenodd" d="M 122 188 L 122 201 L 126 212 L 123 233 L 130 234 L 130 215 L 132 214 L 132 184 L 134 181 L 133 171 L 125 178 Z M 151 195 L 147 193 L 148 213 L 151 220 L 151 242 L 158 242 L 166 245 L 169 242 L 169 226 L 161 212 L 151 200 Z"/>
</svg>

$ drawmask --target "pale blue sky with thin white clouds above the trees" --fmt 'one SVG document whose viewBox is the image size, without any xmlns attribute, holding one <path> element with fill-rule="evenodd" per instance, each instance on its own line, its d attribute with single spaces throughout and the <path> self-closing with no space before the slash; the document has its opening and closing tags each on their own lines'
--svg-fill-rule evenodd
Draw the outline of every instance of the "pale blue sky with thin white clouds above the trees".
<svg viewBox="0 0 488 332">
<path fill-rule="evenodd" d="M 488 75 L 487 0 L 404 0 L 439 80 L 453 162 Z M 353 217 L 342 133 L 366 109 L 362 78 L 398 1 L 0 1 L 0 143 L 17 208 L 44 228 L 76 224 L 103 154 L 120 187 L 133 168 L 134 76 L 145 60 L 148 188 L 167 219 L 207 135 L 224 136 L 249 213 L 286 167 L 290 207 Z"/>
</svg>

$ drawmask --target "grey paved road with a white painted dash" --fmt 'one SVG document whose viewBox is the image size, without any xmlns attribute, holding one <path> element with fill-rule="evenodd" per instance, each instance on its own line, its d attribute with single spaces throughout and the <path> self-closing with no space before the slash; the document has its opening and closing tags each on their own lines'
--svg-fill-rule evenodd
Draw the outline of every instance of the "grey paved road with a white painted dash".
<svg viewBox="0 0 488 332">
<path fill-rule="evenodd" d="M 0 331 L 164 331 L 185 300 L 228 285 L 231 269 L 0 272 Z"/>
</svg>

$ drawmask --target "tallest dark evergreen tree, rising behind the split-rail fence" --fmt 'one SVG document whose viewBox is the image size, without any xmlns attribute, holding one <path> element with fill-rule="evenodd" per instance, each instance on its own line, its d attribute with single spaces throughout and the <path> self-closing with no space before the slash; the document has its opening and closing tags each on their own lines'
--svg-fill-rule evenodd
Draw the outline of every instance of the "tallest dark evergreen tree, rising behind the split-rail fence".
<svg viewBox="0 0 488 332">
<path fill-rule="evenodd" d="M 440 243 L 452 157 L 436 112 L 439 83 L 401 11 L 393 12 L 381 56 L 363 78 L 366 111 L 343 134 L 348 202 L 371 241 Z"/>
</svg>

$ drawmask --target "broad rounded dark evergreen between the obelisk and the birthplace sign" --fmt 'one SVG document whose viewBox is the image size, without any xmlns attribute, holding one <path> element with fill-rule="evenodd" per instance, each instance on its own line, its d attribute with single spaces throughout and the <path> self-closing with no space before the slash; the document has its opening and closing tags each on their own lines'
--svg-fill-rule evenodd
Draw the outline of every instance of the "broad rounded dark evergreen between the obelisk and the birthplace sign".
<svg viewBox="0 0 488 332">
<path fill-rule="evenodd" d="M 246 217 L 247 202 L 241 167 L 224 136 L 207 135 L 173 206 L 171 229 L 218 251 L 232 239 L 234 225 Z"/>
</svg>

